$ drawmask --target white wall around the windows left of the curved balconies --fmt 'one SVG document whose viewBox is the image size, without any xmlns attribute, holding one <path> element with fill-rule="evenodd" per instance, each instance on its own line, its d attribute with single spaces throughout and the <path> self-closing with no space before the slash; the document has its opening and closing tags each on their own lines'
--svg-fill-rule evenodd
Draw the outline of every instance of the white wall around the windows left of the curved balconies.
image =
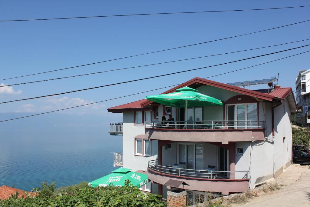
<svg viewBox="0 0 310 207">
<path fill-rule="evenodd" d="M 134 126 L 134 112 L 123 112 L 123 167 L 132 171 L 146 170 L 148 161 L 157 159 L 157 140 L 151 142 L 151 157 L 134 155 L 134 137 L 141 134 L 144 126 Z"/>
</svg>

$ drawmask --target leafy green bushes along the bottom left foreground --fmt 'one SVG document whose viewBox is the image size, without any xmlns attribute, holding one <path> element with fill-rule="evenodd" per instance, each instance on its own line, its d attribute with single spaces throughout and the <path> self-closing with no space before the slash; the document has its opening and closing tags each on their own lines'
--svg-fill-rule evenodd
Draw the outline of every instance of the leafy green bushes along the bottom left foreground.
<svg viewBox="0 0 310 207">
<path fill-rule="evenodd" d="M 127 181 L 124 187 L 81 187 L 74 191 L 74 195 L 66 193 L 57 196 L 27 196 L 18 199 L 14 196 L 7 200 L 0 200 L 1 207 L 60 207 L 60 206 L 166 206 L 162 196 L 144 193 L 138 187 L 130 186 Z M 46 195 L 46 194 L 45 194 Z"/>
</svg>

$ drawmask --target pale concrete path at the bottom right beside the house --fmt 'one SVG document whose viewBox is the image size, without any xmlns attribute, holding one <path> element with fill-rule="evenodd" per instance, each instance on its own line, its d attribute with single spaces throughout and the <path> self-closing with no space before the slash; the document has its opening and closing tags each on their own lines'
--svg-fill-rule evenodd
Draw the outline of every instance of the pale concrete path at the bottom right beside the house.
<svg viewBox="0 0 310 207">
<path fill-rule="evenodd" d="M 278 184 L 287 186 L 259 195 L 244 205 L 232 206 L 310 206 L 310 169 L 308 166 L 293 164 L 276 181 Z"/>
</svg>

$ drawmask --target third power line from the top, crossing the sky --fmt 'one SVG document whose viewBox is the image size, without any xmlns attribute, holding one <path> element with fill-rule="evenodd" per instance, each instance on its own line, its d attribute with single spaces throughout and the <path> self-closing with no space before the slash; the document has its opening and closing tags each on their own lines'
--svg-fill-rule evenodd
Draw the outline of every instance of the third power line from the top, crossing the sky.
<svg viewBox="0 0 310 207">
<path fill-rule="evenodd" d="M 309 38 L 309 39 L 310 39 L 310 38 Z M 117 70 L 133 69 L 133 68 L 145 67 L 145 66 L 150 66 L 150 65 L 159 65 L 159 64 L 165 64 L 165 63 L 172 63 L 172 62 L 193 60 L 193 59 L 204 58 L 204 57 L 226 55 L 226 54 L 231 54 L 231 53 L 236 53 L 236 52 L 244 52 L 244 51 L 257 50 L 257 49 L 262 49 L 262 48 L 267 48 L 267 47 L 274 47 L 274 46 L 279 46 L 279 45 L 285 45 L 285 44 L 290 44 L 290 43 L 297 43 L 297 42 L 302 42 L 302 41 L 306 41 L 306 40 L 309 40 L 309 39 L 304 39 L 304 40 L 299 40 L 299 41 L 294 41 L 294 42 L 289 42 L 289 43 L 282 43 L 282 44 L 277 44 L 277 45 L 271 45 L 271 46 L 266 46 L 266 47 L 257 47 L 257 48 L 248 49 L 248 50 L 239 50 L 239 51 L 235 51 L 235 52 L 226 52 L 226 53 L 215 54 L 215 55 L 208 55 L 208 56 L 201 56 L 201 57 L 193 57 L 193 58 L 187 58 L 187 59 L 176 60 L 176 61 L 168 61 L 168 62 L 154 63 L 154 64 L 148 64 L 148 65 L 139 65 L 139 66 L 134 66 L 134 67 L 119 68 L 119 69 L 113 69 L 113 70 L 105 70 L 105 71 L 100 71 L 100 72 L 95 72 L 95 73 L 86 73 L 86 74 L 72 75 L 72 76 L 66 76 L 66 77 L 61 77 L 61 78 L 37 80 L 37 81 L 31 81 L 31 82 L 25 82 L 25 83 L 14 83 L 14 84 L 9 84 L 9 85 L 3 85 L 3 86 L 0 86 L 0 87 L 15 86 L 15 85 L 23 85 L 23 84 L 29 84 L 29 83 L 39 83 L 39 82 L 44 82 L 44 81 L 51 81 L 51 80 L 59 80 L 59 79 L 73 78 L 73 77 L 79 77 L 79 76 L 84 76 L 84 75 L 100 74 L 100 73 L 106 73 L 106 72 L 117 71 Z"/>
</svg>

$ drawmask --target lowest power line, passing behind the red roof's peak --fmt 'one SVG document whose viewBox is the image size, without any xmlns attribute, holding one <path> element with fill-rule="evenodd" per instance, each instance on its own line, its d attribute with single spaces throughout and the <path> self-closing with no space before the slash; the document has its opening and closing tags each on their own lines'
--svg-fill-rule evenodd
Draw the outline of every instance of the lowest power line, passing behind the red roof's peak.
<svg viewBox="0 0 310 207">
<path fill-rule="evenodd" d="M 310 52 L 310 51 L 306 51 L 306 52 Z M 276 60 L 273 60 L 273 61 L 264 62 L 264 63 L 258 64 L 258 65 L 263 65 L 263 64 L 270 63 L 270 62 L 274 62 L 274 61 L 286 59 L 286 58 L 289 58 L 289 57 L 292 57 L 292 56 L 296 56 L 296 55 L 300 55 L 300 54 L 303 54 L 303 53 L 306 53 L 306 52 L 301 52 L 301 53 L 298 53 L 298 54 L 295 54 L 295 55 L 286 56 L 286 57 L 283 57 L 283 58 L 280 58 L 280 59 L 276 59 Z M 215 76 L 219 76 L 219 75 L 224 75 L 224 74 L 232 73 L 232 72 L 236 72 L 236 71 L 239 71 L 239 70 L 245 70 L 245 69 L 248 69 L 248 68 L 251 68 L 251 67 L 255 67 L 255 66 L 258 66 L 258 65 L 252 65 L 252 66 L 249 66 L 249 67 L 246 67 L 246 68 L 241 68 L 241 69 L 237 69 L 237 70 L 232 70 L 232 71 L 228 71 L 228 72 L 225 72 L 225 73 L 212 75 L 212 76 L 209 76 L 209 77 L 206 77 L 206 78 L 212 78 L 212 77 L 215 77 Z M 206 79 L 206 78 L 201 78 L 201 79 Z M 198 80 L 201 80 L 201 79 L 198 79 Z M 196 80 L 195 80 L 195 81 L 196 81 Z M 192 81 L 192 82 L 194 82 L 194 81 Z M 179 84 L 181 84 L 181 83 L 179 83 Z M 117 98 L 111 98 L 111 99 L 107 99 L 107 100 L 104 100 L 104 101 L 110 101 L 110 100 L 115 100 L 115 99 L 119 99 L 119 98 L 123 98 L 123 97 L 129 97 L 129 96 L 133 96 L 133 95 L 137 95 L 137 94 L 141 94 L 141 93 L 156 91 L 156 90 L 163 89 L 163 88 L 170 88 L 170 87 L 173 87 L 173 86 L 177 86 L 177 85 L 179 85 L 179 84 L 175 84 L 175 85 L 171 85 L 171 86 L 166 86 L 166 87 L 162 87 L 162 88 L 156 88 L 156 89 L 153 89 L 153 90 L 148 90 L 148 91 L 144 91 L 144 92 L 134 93 L 134 94 L 130 94 L 130 95 L 126 95 L 126 96 L 121 96 L 121 97 L 117 97 Z M 87 105 L 91 105 L 91 104 L 95 104 L 95 103 L 100 103 L 100 102 L 104 102 L 104 101 L 97 101 L 97 102 L 93 102 L 93 103 L 89 103 L 89 104 L 83 104 L 83 105 L 79 105 L 79 106 L 73 106 L 73 107 L 64 108 L 64 109 L 59 109 L 59 110 L 54 110 L 54 111 L 43 112 L 43 113 L 40 113 L 40 114 L 33 114 L 33 115 L 18 117 L 18 118 L 14 118 L 14 119 L 2 120 L 2 121 L 0 121 L 0 122 L 11 121 L 11 120 L 15 120 L 15 119 L 22 119 L 22 118 L 27 118 L 27 117 L 37 116 L 37 115 L 42 115 L 42 114 L 48 114 L 48 113 L 52 113 L 52 112 L 56 112 L 56 111 L 62 111 L 62 110 L 77 108 L 77 107 L 81 107 L 81 106 L 87 106 Z"/>
</svg>

